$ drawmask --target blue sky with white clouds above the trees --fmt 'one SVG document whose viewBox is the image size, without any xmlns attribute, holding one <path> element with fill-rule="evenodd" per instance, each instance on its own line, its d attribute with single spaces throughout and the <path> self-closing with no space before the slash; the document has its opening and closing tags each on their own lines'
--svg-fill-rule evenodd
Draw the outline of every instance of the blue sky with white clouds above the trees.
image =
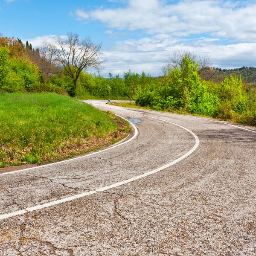
<svg viewBox="0 0 256 256">
<path fill-rule="evenodd" d="M 255 14 L 250 0 L 0 0 L 0 33 L 36 48 L 76 32 L 102 42 L 102 76 L 159 76 L 179 49 L 210 55 L 212 67 L 256 66 Z"/>
</svg>

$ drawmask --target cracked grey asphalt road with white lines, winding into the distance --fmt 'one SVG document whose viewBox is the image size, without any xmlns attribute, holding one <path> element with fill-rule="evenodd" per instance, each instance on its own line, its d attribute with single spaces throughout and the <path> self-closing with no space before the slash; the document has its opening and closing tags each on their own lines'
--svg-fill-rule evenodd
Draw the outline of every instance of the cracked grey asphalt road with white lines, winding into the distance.
<svg viewBox="0 0 256 256">
<path fill-rule="evenodd" d="M 256 255 L 256 130 L 87 102 L 138 134 L 0 174 L 1 256 Z"/>
</svg>

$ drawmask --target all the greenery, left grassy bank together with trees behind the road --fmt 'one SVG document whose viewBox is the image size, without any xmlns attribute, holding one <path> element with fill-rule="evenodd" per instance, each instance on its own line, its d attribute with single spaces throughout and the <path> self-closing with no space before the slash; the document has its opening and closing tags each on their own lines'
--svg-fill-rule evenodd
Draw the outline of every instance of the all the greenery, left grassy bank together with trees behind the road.
<svg viewBox="0 0 256 256">
<path fill-rule="evenodd" d="M 159 77 L 128 70 L 104 78 L 101 47 L 75 33 L 38 49 L 0 35 L 0 166 L 69 157 L 125 136 L 116 117 L 71 97 L 135 100 L 140 108 L 256 125 L 253 67 L 220 70 L 207 56 L 177 51 Z"/>
</svg>

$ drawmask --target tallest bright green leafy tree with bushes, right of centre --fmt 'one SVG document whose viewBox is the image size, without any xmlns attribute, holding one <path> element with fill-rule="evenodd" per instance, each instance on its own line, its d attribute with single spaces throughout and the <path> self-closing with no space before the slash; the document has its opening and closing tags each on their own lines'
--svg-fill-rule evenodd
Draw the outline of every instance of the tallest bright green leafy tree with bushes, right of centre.
<svg viewBox="0 0 256 256">
<path fill-rule="evenodd" d="M 154 92 L 144 92 L 137 96 L 137 104 L 151 106 L 157 110 L 174 108 L 212 115 L 218 111 L 218 98 L 207 92 L 201 83 L 198 64 L 185 56 L 180 67 L 170 70 L 168 84 Z"/>
</svg>

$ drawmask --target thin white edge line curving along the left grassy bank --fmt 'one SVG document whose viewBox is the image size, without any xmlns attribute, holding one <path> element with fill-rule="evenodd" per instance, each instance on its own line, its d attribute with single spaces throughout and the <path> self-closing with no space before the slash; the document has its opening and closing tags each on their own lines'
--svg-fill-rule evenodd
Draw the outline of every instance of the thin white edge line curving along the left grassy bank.
<svg viewBox="0 0 256 256">
<path fill-rule="evenodd" d="M 119 116 L 119 115 L 117 115 L 117 114 L 115 114 L 115 113 L 113 113 L 113 114 L 116 115 L 116 116 Z M 109 149 L 111 149 L 111 148 L 115 148 L 115 147 L 118 147 L 118 146 L 123 145 L 123 144 L 125 144 L 125 143 L 128 143 L 128 142 L 130 142 L 131 140 L 133 140 L 135 137 L 137 137 L 137 135 L 138 135 L 138 130 L 137 130 L 136 126 L 135 126 L 133 123 L 131 123 L 129 120 L 125 119 L 125 118 L 122 117 L 122 116 L 119 116 L 119 117 L 121 117 L 122 119 L 128 121 L 128 122 L 132 125 L 132 127 L 134 128 L 134 131 L 135 131 L 135 132 L 134 132 L 134 135 L 133 135 L 133 137 L 131 137 L 129 140 L 126 140 L 126 141 L 124 141 L 124 142 L 122 142 L 122 143 L 117 142 L 116 144 L 114 144 L 114 145 L 112 145 L 112 146 L 110 146 L 110 147 L 108 147 L 108 148 L 105 148 L 105 149 L 102 149 L 102 150 L 100 150 L 100 151 L 96 151 L 96 152 L 93 152 L 93 153 L 90 153 L 90 154 L 87 154 L 87 155 L 84 155 L 84 156 L 81 156 L 81 157 L 75 157 L 75 158 L 63 160 L 63 161 L 56 162 L 56 163 L 48 163 L 48 164 L 45 164 L 45 165 L 30 167 L 30 168 L 21 169 L 21 170 L 12 171 L 12 172 L 3 172 L 3 173 L 0 173 L 0 176 L 8 175 L 8 174 L 16 173 L 16 172 L 24 172 L 24 171 L 28 171 L 28 170 L 32 170 L 32 169 L 43 168 L 43 167 L 45 167 L 45 166 L 51 166 L 51 165 L 55 165 L 55 164 L 59 164 L 59 163 L 65 163 L 65 162 L 69 162 L 69 161 L 74 161 L 74 160 L 77 160 L 77 159 L 80 159 L 80 158 L 89 157 L 89 156 L 91 156 L 91 155 L 93 155 L 93 154 L 98 154 L 98 153 L 100 153 L 100 152 L 107 151 L 107 150 L 109 150 Z"/>
</svg>

